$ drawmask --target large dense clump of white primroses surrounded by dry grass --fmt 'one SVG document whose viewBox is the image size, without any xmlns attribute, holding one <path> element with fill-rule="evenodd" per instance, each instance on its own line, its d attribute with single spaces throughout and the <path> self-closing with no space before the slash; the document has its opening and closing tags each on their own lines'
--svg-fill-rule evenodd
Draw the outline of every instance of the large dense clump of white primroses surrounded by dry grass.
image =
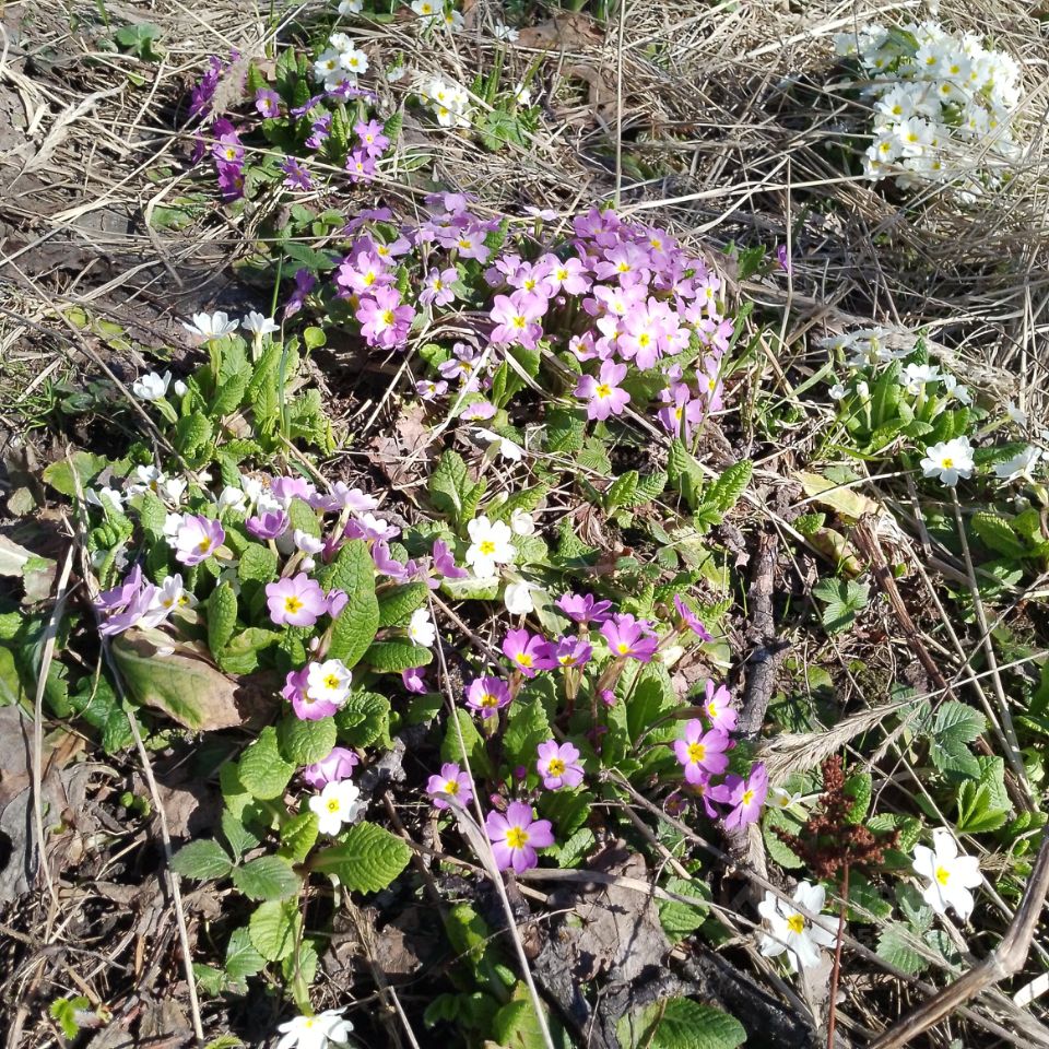
<svg viewBox="0 0 1049 1049">
<path fill-rule="evenodd" d="M 872 81 L 864 89 L 874 99 L 869 177 L 895 175 L 903 189 L 959 182 L 975 196 L 981 176 L 990 177 L 991 157 L 1001 165 L 1019 152 L 1011 119 L 1021 97 L 1019 67 L 975 34 L 952 34 L 936 22 L 868 25 L 859 35 L 839 35 L 835 45 L 839 55 L 857 56 Z M 979 163 L 965 158 L 970 143 L 980 145 Z M 948 150 L 963 158 L 966 174 L 952 169 Z"/>
</svg>

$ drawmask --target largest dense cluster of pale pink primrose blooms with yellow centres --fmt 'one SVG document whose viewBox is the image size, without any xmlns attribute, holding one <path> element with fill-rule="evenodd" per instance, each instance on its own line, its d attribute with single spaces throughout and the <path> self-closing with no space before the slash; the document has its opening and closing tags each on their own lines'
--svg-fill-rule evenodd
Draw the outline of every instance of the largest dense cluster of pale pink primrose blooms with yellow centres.
<svg viewBox="0 0 1049 1049">
<path fill-rule="evenodd" d="M 427 204 L 433 213 L 398 235 L 411 247 L 433 243 L 446 252 L 429 252 L 420 303 L 453 308 L 455 285 L 464 279 L 468 260 L 486 266 L 484 280 L 493 294 L 486 374 L 474 367 L 482 346 L 459 342 L 439 365 L 440 379 L 420 384 L 421 396 L 440 397 L 456 379 L 463 392 L 483 392 L 507 347 L 535 349 L 546 339 L 570 349 L 582 365 L 594 362 L 594 370 L 581 375 L 575 388 L 591 420 L 623 413 L 630 403 L 624 384 L 632 370 L 662 374 L 656 416 L 674 435 L 687 439 L 706 414 L 722 408 L 720 365 L 733 323 L 721 313 L 721 281 L 664 229 L 594 209 L 574 220 L 573 236 L 557 250 L 524 234 L 495 249 L 488 235 L 497 222 L 474 215 L 465 195 L 435 195 Z M 355 246 L 343 263 L 346 271 L 337 276 L 342 288 L 382 275 L 351 262 L 356 254 Z M 370 332 L 364 334 L 379 344 Z"/>
</svg>

